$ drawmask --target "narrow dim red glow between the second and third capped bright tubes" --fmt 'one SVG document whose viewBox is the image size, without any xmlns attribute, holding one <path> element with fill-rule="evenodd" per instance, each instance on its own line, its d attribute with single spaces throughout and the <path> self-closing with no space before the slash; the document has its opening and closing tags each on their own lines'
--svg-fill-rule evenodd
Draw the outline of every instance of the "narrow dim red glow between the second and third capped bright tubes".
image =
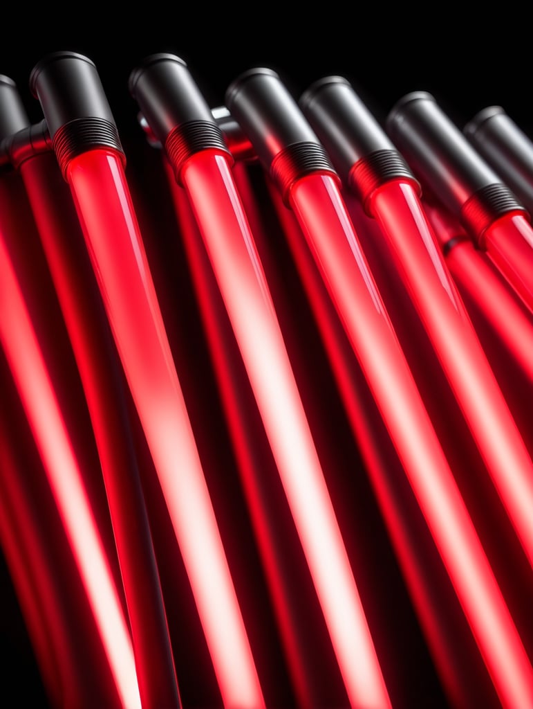
<svg viewBox="0 0 533 709">
<path fill-rule="evenodd" d="M 280 192 L 269 181 L 270 197 L 276 208 L 306 294 L 319 324 L 324 345 L 338 381 L 340 395 L 350 418 L 357 443 L 365 459 L 367 473 L 376 493 L 389 536 L 408 584 L 432 657 L 449 696 L 464 705 L 463 666 L 457 666 L 457 647 L 449 642 L 449 620 L 438 608 L 439 588 L 428 574 L 428 559 L 420 546 L 420 530 L 410 529 L 410 507 L 399 497 L 396 476 L 403 476 L 399 461 L 387 453 L 381 432 L 372 425 L 367 388 L 357 376 L 355 353 L 345 337 L 343 325 L 316 267 L 309 246 L 291 209 L 282 201 Z M 362 375 L 361 375 L 362 376 Z"/>
</svg>

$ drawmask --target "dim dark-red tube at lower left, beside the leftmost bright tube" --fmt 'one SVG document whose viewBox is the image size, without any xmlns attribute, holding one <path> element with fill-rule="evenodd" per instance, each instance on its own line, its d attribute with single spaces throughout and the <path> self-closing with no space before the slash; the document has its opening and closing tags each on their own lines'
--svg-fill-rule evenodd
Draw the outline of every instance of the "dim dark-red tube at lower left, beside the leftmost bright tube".
<svg viewBox="0 0 533 709">
<path fill-rule="evenodd" d="M 2 367 L 4 357 L 2 353 Z M 50 705 L 122 707 L 45 469 L 5 364 L 0 537 Z M 18 698 L 22 701 L 25 687 Z"/>
</svg>

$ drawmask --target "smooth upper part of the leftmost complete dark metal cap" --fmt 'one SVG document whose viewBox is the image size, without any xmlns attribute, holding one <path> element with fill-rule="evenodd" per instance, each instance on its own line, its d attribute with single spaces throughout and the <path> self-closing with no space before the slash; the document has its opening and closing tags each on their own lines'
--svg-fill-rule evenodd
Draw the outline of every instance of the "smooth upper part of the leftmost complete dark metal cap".
<svg viewBox="0 0 533 709">
<path fill-rule="evenodd" d="M 30 73 L 30 91 L 40 101 L 52 139 L 59 128 L 79 118 L 98 118 L 116 128 L 96 66 L 84 55 L 47 55 Z"/>
</svg>

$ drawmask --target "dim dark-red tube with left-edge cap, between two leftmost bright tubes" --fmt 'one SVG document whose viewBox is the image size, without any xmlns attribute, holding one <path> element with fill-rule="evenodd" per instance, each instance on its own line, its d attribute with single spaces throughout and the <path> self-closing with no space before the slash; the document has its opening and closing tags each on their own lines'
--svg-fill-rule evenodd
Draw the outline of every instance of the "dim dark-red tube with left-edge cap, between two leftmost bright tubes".
<svg viewBox="0 0 533 709">
<path fill-rule="evenodd" d="M 15 87 L 4 84 L 0 90 L 2 123 L 11 116 L 16 118 L 10 126 L 14 129 L 11 142 L 16 146 L 28 135 L 24 129 L 29 121 Z M 69 190 L 54 153 L 49 150 L 32 156 L 27 149 L 11 152 L 40 232 L 91 416 L 124 584 L 143 709 L 171 709 L 180 705 L 176 673 L 127 420 L 122 372 L 108 320 L 84 252 L 74 206 L 69 210 Z M 78 232 L 76 240 L 74 235 Z"/>
</svg>

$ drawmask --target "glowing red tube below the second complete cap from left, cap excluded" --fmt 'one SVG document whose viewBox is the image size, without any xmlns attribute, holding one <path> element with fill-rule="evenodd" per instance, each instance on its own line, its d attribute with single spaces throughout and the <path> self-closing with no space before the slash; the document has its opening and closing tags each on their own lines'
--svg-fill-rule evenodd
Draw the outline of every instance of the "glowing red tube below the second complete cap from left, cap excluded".
<svg viewBox="0 0 533 709">
<path fill-rule="evenodd" d="M 227 157 L 197 153 L 180 177 L 239 342 L 350 705 L 388 707 L 359 592 Z"/>
</svg>

